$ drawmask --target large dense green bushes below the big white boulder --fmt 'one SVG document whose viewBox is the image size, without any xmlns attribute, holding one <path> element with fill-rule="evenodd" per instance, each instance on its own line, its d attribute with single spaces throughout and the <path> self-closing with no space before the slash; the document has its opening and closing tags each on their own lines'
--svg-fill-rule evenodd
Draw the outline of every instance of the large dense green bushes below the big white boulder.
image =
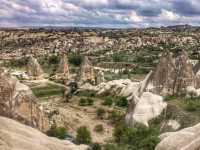
<svg viewBox="0 0 200 150">
<path fill-rule="evenodd" d="M 159 129 L 136 124 L 127 127 L 120 124 L 114 129 L 114 140 L 120 145 L 130 145 L 130 149 L 154 150 L 159 142 Z"/>
</svg>

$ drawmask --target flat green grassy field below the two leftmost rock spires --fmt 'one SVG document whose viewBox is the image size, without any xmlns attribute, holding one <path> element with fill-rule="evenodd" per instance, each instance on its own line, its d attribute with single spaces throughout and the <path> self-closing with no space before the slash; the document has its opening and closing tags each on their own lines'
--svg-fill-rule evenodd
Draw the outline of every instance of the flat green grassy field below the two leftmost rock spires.
<svg viewBox="0 0 200 150">
<path fill-rule="evenodd" d="M 54 84 L 33 87 L 32 91 L 36 97 L 62 96 L 64 88 Z"/>
</svg>

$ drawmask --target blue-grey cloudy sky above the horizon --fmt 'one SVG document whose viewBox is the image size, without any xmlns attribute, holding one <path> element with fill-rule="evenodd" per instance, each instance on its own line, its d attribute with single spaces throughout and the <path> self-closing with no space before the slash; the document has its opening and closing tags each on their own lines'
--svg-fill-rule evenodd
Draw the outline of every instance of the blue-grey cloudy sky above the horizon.
<svg viewBox="0 0 200 150">
<path fill-rule="evenodd" d="M 200 25 L 200 0 L 0 0 L 0 26 Z"/>
</svg>

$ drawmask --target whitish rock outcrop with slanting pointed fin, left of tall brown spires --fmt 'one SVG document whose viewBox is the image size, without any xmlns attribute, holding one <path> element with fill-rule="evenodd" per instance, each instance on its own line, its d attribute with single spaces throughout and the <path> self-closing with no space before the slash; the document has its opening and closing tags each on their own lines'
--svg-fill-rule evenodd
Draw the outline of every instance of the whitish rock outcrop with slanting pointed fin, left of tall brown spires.
<svg viewBox="0 0 200 150">
<path fill-rule="evenodd" d="M 142 82 L 132 82 L 129 79 L 109 81 L 98 85 L 96 90 L 98 94 L 127 97 L 129 106 L 125 117 L 126 123 L 139 122 L 148 126 L 148 121 L 159 116 L 167 106 L 161 96 L 144 92 L 151 75 L 152 72 Z"/>
</svg>

